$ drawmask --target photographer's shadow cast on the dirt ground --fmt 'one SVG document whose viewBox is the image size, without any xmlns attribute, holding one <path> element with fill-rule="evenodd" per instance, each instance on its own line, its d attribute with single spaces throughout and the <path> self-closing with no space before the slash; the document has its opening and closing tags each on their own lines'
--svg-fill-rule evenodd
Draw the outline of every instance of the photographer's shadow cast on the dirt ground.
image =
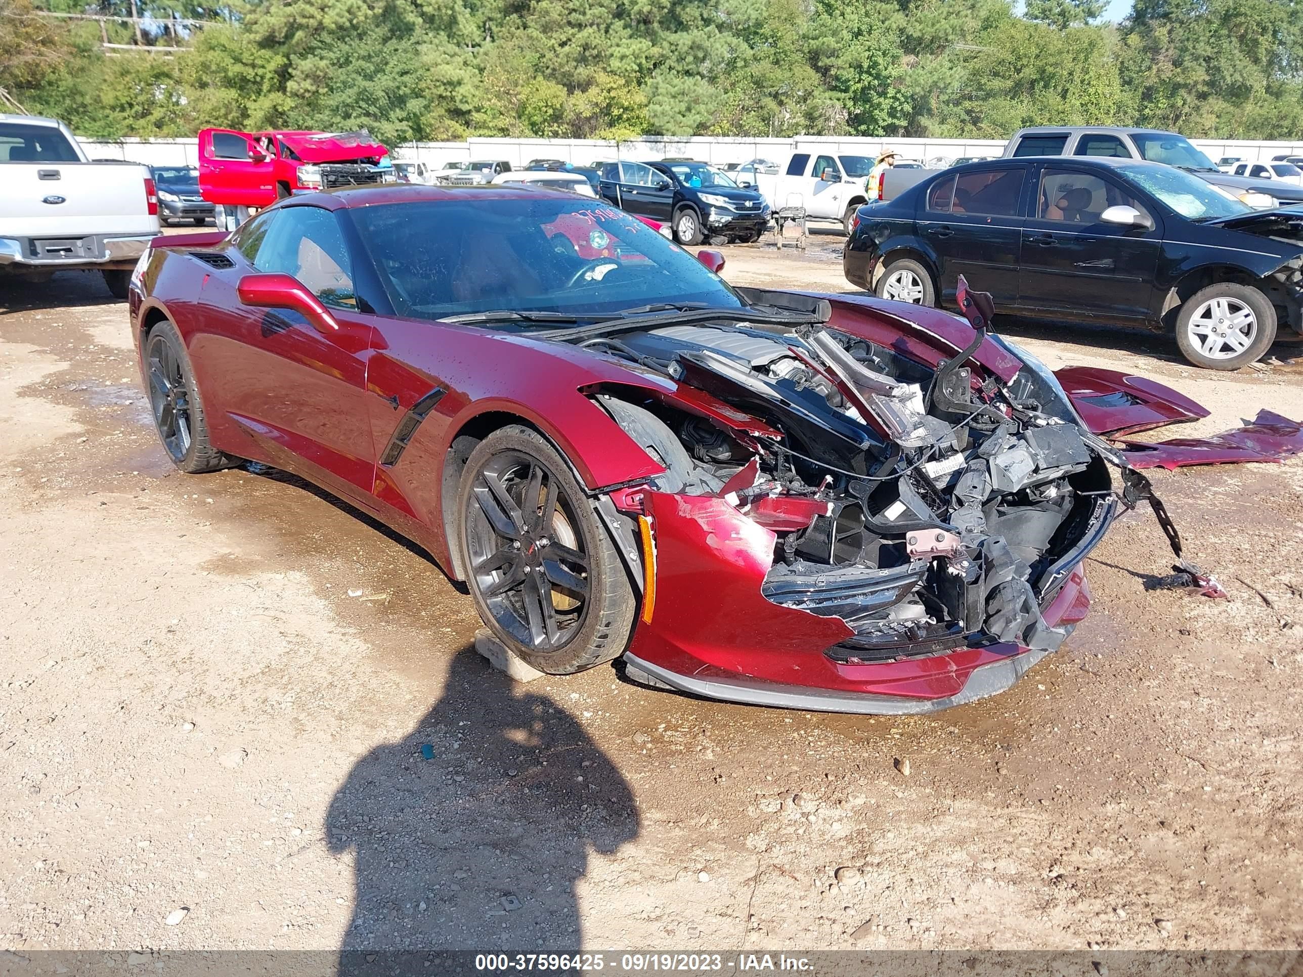
<svg viewBox="0 0 1303 977">
<path fill-rule="evenodd" d="M 636 838 L 638 815 L 563 709 L 466 647 L 416 728 L 353 767 L 326 832 L 356 853 L 348 973 L 378 951 L 573 952 L 589 851 Z"/>
</svg>

